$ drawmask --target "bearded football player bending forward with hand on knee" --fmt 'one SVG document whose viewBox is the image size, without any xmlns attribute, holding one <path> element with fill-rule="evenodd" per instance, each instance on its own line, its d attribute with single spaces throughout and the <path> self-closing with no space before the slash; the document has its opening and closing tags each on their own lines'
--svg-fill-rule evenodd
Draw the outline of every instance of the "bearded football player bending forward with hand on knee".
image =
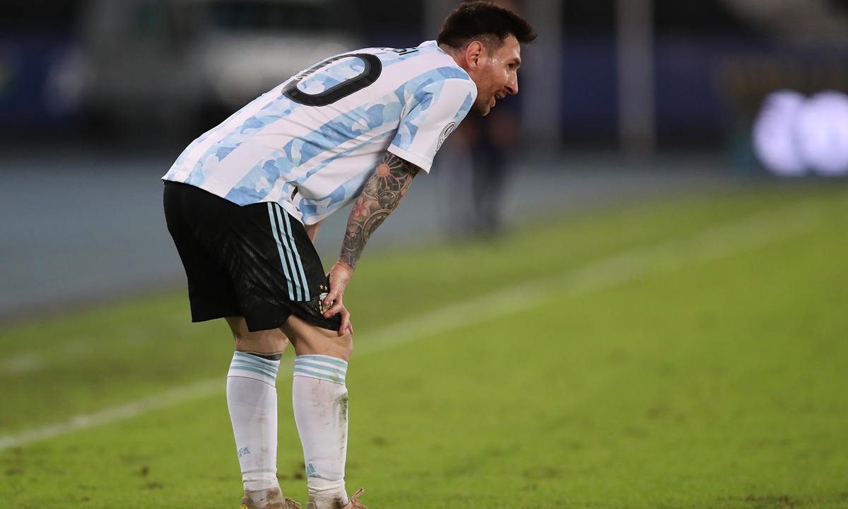
<svg viewBox="0 0 848 509">
<path fill-rule="evenodd" d="M 344 289 L 374 230 L 470 111 L 518 92 L 533 27 L 462 3 L 437 41 L 367 48 L 304 70 L 192 142 L 165 180 L 165 217 L 192 322 L 226 318 L 236 340 L 226 399 L 242 509 L 294 509 L 276 480 L 276 372 L 290 341 L 309 509 L 363 508 L 344 487 L 353 327 Z M 325 275 L 313 241 L 354 201 Z"/>
</svg>

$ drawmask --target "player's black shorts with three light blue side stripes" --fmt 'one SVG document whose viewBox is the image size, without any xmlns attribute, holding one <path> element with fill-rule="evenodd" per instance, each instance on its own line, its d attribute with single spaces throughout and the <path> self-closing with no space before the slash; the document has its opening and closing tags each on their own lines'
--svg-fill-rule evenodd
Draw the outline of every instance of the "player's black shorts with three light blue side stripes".
<svg viewBox="0 0 848 509">
<path fill-rule="evenodd" d="M 240 206 L 199 187 L 165 182 L 165 220 L 188 277 L 192 322 L 244 316 L 251 332 L 295 315 L 324 318 L 329 282 L 304 226 L 276 203 Z"/>
</svg>

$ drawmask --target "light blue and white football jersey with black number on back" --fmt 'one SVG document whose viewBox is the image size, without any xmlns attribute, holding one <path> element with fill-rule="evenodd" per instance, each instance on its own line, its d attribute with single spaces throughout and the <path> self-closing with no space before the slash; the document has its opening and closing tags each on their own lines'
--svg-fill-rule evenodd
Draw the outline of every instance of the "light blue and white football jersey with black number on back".
<svg viewBox="0 0 848 509">
<path fill-rule="evenodd" d="M 356 199 L 388 152 L 429 172 L 477 87 L 434 41 L 342 53 L 192 142 L 164 180 L 315 224 Z"/>
</svg>

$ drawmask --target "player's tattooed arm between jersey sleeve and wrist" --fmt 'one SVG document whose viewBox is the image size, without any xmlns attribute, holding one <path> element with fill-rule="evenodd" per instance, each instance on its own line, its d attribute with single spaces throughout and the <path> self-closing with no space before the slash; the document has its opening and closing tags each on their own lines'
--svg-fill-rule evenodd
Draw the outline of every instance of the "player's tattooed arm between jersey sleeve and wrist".
<svg viewBox="0 0 848 509">
<path fill-rule="evenodd" d="M 371 233 L 400 204 L 416 173 L 418 173 L 416 165 L 394 154 L 387 153 L 382 158 L 374 175 L 365 182 L 365 188 L 360 198 L 356 200 L 354 210 L 350 212 L 339 260 L 349 266 L 356 266 L 356 261 L 360 259 L 362 249 L 365 249 L 365 243 L 371 238 Z"/>
</svg>

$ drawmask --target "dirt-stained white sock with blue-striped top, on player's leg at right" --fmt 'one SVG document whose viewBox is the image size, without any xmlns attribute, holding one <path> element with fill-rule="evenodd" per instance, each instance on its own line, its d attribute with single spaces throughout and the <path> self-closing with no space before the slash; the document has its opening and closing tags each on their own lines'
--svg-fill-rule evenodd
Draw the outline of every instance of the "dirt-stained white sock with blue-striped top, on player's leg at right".
<svg viewBox="0 0 848 509">
<path fill-rule="evenodd" d="M 317 509 L 348 505 L 344 462 L 348 456 L 348 363 L 328 355 L 294 358 L 292 404 L 304 446 L 306 484 Z"/>
</svg>

